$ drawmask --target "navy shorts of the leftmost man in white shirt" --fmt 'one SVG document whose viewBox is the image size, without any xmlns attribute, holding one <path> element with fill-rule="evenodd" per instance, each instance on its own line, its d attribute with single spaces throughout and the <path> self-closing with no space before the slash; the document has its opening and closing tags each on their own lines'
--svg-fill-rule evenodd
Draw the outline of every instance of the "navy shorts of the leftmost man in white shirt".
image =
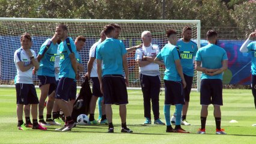
<svg viewBox="0 0 256 144">
<path fill-rule="evenodd" d="M 16 103 L 17 104 L 38 104 L 37 92 L 34 84 L 16 83 Z"/>
</svg>

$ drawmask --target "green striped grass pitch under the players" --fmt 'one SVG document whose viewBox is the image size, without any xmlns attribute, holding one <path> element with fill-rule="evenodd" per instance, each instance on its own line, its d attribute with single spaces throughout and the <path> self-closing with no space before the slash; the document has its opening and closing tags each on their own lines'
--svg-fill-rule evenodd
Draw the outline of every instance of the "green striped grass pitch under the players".
<svg viewBox="0 0 256 144">
<path fill-rule="evenodd" d="M 107 125 L 91 125 L 73 128 L 72 131 L 55 131 L 57 126 L 47 127 L 47 131 L 17 129 L 16 91 L 15 88 L 0 88 L 0 143 L 256 143 L 256 110 L 251 91 L 248 89 L 224 89 L 224 106 L 222 109 L 222 128 L 227 135 L 215 134 L 213 106 L 209 106 L 206 122 L 207 134 L 196 134 L 200 128 L 200 93 L 190 95 L 187 121 L 190 126 L 183 126 L 189 134 L 166 133 L 164 125 L 142 125 L 144 110 L 141 91 L 128 91 L 127 125 L 134 133 L 120 133 L 118 106 L 113 108 L 115 133 L 106 133 Z M 37 89 L 37 94 L 40 90 Z M 160 95 L 160 118 L 163 115 L 164 91 Z M 46 110 L 44 110 L 46 112 Z M 174 106 L 171 106 L 171 113 Z M 153 115 L 153 114 L 152 114 Z M 98 112 L 96 107 L 95 118 Z M 23 118 L 25 120 L 25 118 Z M 238 121 L 230 123 L 231 120 Z"/>
</svg>

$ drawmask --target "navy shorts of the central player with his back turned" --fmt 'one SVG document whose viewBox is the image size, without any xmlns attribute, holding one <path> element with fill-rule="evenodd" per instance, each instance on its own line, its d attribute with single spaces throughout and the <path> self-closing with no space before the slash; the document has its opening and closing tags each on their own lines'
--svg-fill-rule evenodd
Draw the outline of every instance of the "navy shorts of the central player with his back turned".
<svg viewBox="0 0 256 144">
<path fill-rule="evenodd" d="M 126 80 L 122 75 L 111 74 L 102 77 L 105 104 L 127 104 Z"/>
</svg>

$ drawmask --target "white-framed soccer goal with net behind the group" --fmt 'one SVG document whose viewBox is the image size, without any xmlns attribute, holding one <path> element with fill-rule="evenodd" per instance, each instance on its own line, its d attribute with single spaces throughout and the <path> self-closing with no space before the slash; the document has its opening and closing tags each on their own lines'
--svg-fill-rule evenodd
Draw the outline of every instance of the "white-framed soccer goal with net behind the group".
<svg viewBox="0 0 256 144">
<path fill-rule="evenodd" d="M 141 32 L 150 31 L 153 35 L 153 44 L 162 48 L 166 43 L 165 32 L 168 29 L 175 29 L 178 38 L 181 38 L 184 26 L 193 29 L 192 40 L 200 48 L 200 20 L 93 20 L 93 19 L 31 19 L 31 18 L 0 18 L 0 85 L 14 85 L 16 67 L 13 62 L 13 55 L 20 47 L 20 35 L 29 32 L 32 35 L 32 49 L 39 52 L 41 44 L 51 38 L 58 23 L 64 23 L 68 28 L 68 35 L 75 40 L 79 35 L 87 38 L 84 49 L 81 50 L 82 62 L 87 72 L 89 50 L 100 38 L 103 27 L 109 23 L 118 23 L 121 26 L 120 40 L 123 40 L 126 47 L 141 44 Z M 135 62 L 135 52 L 127 55 L 129 62 L 130 88 L 140 88 L 139 69 Z M 161 80 L 165 68 L 160 67 Z M 80 86 L 82 80 L 78 81 Z M 198 74 L 195 77 L 192 88 L 198 89 L 200 85 Z M 34 83 L 38 85 L 37 76 L 34 76 Z M 162 80 L 163 87 L 163 80 Z"/>
</svg>

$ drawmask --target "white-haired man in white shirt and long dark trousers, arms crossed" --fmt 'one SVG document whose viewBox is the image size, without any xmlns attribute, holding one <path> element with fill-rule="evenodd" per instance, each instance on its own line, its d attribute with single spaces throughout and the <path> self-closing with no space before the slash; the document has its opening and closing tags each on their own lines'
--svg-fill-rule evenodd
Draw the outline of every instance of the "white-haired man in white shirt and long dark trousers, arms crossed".
<svg viewBox="0 0 256 144">
<path fill-rule="evenodd" d="M 165 125 L 159 119 L 159 93 L 160 93 L 160 71 L 159 65 L 154 64 L 154 58 L 159 53 L 159 47 L 151 44 L 152 35 L 150 31 L 144 31 L 141 34 L 143 46 L 137 49 L 135 60 L 139 65 L 139 80 L 144 101 L 144 117 L 143 124 L 151 124 L 151 103 L 154 114 L 154 124 Z M 151 102 L 151 103 L 150 103 Z"/>
</svg>

